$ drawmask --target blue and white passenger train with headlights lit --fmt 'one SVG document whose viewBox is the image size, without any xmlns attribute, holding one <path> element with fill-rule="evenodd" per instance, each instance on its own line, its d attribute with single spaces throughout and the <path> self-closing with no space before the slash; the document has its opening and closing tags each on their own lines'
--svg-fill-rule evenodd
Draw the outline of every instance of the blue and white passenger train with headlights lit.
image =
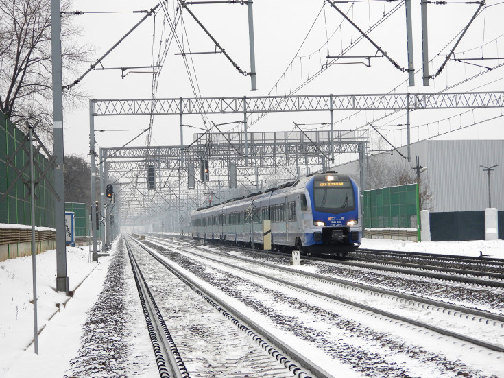
<svg viewBox="0 0 504 378">
<path fill-rule="evenodd" d="M 270 230 L 263 229 L 265 220 Z M 197 209 L 191 226 L 194 239 L 263 249 L 264 235 L 270 232 L 274 250 L 344 257 L 361 245 L 359 187 L 346 174 L 309 174 L 264 192 Z"/>
</svg>

